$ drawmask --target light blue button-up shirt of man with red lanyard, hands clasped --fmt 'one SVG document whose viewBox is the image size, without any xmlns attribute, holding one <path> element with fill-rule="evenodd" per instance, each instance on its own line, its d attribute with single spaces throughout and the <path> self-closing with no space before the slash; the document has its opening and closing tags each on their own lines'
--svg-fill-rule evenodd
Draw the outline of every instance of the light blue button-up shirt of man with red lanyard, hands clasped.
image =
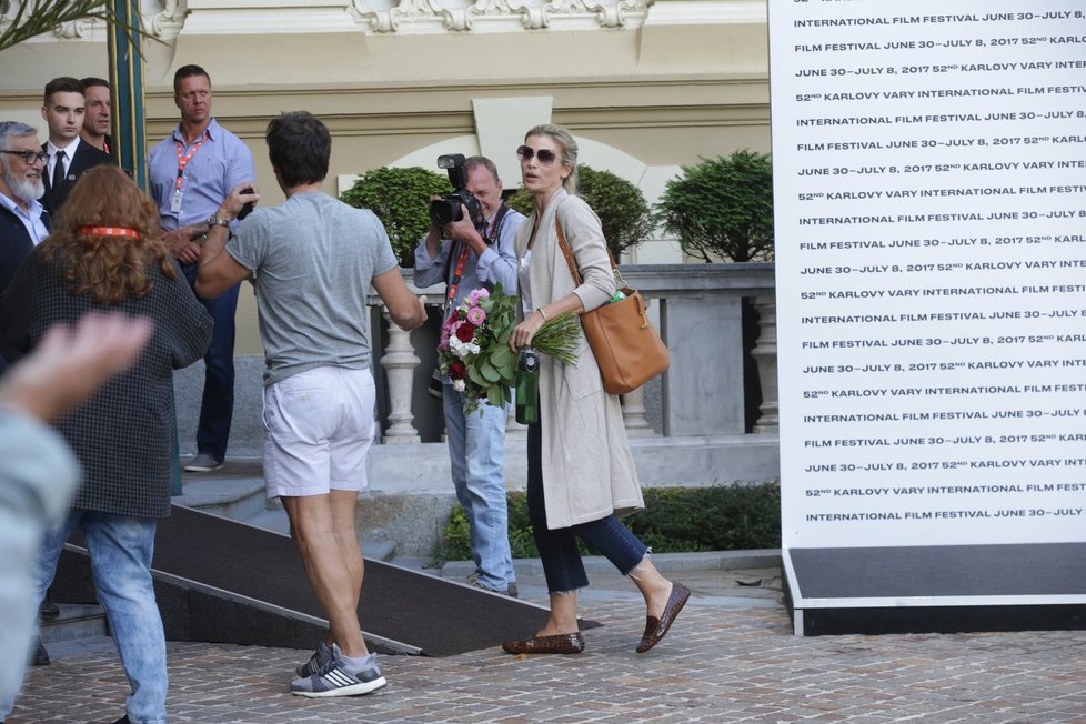
<svg viewBox="0 0 1086 724">
<path fill-rule="evenodd" d="M 203 143 L 184 168 L 181 211 L 171 211 L 178 183 L 178 143 L 181 144 L 181 158 L 184 158 L 201 140 L 204 140 Z M 207 130 L 189 145 L 184 142 L 179 123 L 172 135 L 151 149 L 147 165 L 151 199 L 159 205 L 159 218 L 167 231 L 207 221 L 208 217 L 219 211 L 232 188 L 242 181 L 257 180 L 249 147 L 219 125 L 215 119 L 211 119 Z"/>
</svg>

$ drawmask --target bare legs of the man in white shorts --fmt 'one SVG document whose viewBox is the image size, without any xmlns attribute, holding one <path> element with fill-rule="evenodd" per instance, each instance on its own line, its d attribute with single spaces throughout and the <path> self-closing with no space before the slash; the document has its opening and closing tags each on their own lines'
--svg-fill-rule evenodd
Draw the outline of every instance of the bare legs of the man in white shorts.
<svg viewBox="0 0 1086 724">
<path fill-rule="evenodd" d="M 283 507 L 291 522 L 291 537 L 302 555 L 313 593 L 328 614 L 332 641 L 344 655 L 360 658 L 370 652 L 362 640 L 358 605 L 362 579 L 362 551 L 354 540 L 354 555 L 345 554 L 336 535 L 336 520 L 342 520 L 346 502 L 343 491 L 326 495 L 283 496 Z M 351 493 L 353 530 L 354 493 Z M 333 513 L 333 510 L 336 512 Z"/>
</svg>

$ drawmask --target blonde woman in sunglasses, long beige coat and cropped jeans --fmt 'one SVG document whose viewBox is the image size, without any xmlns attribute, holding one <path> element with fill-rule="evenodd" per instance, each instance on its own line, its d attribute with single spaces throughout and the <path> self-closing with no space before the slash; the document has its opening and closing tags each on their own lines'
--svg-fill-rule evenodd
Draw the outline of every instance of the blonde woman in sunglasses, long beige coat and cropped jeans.
<svg viewBox="0 0 1086 724">
<path fill-rule="evenodd" d="M 557 125 L 537 125 L 516 150 L 524 188 L 535 211 L 516 233 L 521 319 L 510 345 L 529 348 L 544 321 L 581 314 L 615 293 L 600 220 L 576 191 L 577 145 Z M 584 280 L 574 284 L 559 248 L 556 224 Z M 629 575 L 647 606 L 637 645 L 656 645 L 690 591 L 660 574 L 648 550 L 619 517 L 644 507 L 641 483 L 626 441 L 619 398 L 603 390 L 600 369 L 584 335 L 576 365 L 540 360 L 540 422 L 527 432 L 527 504 L 551 599 L 546 625 L 530 638 L 503 644 L 511 654 L 579 654 L 577 589 L 589 585 L 576 539 L 581 537 Z"/>
</svg>

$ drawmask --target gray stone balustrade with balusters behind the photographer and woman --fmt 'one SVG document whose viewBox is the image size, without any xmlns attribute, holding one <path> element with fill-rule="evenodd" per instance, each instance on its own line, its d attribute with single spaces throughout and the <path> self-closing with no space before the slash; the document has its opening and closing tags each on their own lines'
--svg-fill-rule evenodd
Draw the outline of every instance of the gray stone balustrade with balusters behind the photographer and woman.
<svg viewBox="0 0 1086 724">
<path fill-rule="evenodd" d="M 773 264 L 624 265 L 622 273 L 648 300 L 672 354 L 667 372 L 623 396 L 623 416 L 643 477 L 703 485 L 776 479 Z M 410 283 L 410 270 L 405 276 Z M 433 301 L 444 296 L 441 285 L 412 289 Z M 386 464 L 374 477 L 396 490 L 444 484 L 444 419 L 441 403 L 425 392 L 435 365 L 440 309 L 434 305 L 430 322 L 406 333 L 389 323 L 379 298 L 372 295 L 370 302 L 381 422 L 381 444 L 371 459 L 374 465 Z M 263 359 L 239 356 L 235 366 L 229 455 L 260 456 Z M 182 455 L 193 452 L 202 382 L 202 363 L 177 373 Z M 511 421 L 511 448 L 523 446 L 524 438 L 523 426 Z M 432 456 L 433 464 L 405 466 L 404 455 L 413 461 Z M 519 453 L 510 460 L 519 461 Z M 521 462 L 509 472 L 511 486 L 523 477 Z"/>
</svg>

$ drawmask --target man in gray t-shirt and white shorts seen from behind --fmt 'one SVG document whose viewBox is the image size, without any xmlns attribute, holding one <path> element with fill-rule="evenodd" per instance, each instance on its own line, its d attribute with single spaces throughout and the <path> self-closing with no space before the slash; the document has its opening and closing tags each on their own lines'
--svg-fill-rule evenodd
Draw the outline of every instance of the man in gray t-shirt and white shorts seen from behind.
<svg viewBox="0 0 1086 724">
<path fill-rule="evenodd" d="M 264 372 L 264 481 L 291 521 L 291 537 L 329 620 L 329 636 L 295 671 L 291 693 L 352 696 L 384 686 L 358 617 L 363 560 L 354 533 L 365 455 L 375 436 L 375 391 L 365 294 L 372 284 L 392 321 L 426 319 L 370 211 L 322 191 L 332 139 L 304 111 L 268 124 L 268 152 L 286 202 L 230 222 L 259 193 L 235 187 L 211 222 L 195 290 L 214 296 L 252 279 Z"/>
</svg>

